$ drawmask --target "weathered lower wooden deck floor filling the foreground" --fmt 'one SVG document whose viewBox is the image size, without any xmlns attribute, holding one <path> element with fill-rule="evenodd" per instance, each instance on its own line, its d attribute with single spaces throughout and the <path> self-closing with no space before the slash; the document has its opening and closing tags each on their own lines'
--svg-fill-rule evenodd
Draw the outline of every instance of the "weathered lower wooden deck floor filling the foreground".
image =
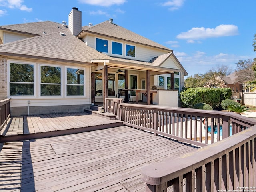
<svg viewBox="0 0 256 192">
<path fill-rule="evenodd" d="M 69 126 L 68 118 L 59 124 Z M 42 118 L 38 123 L 50 128 L 52 119 Z M 79 126 L 82 122 L 77 119 Z M 34 131 L 40 127 L 35 126 Z M 144 192 L 143 166 L 192 150 L 197 148 L 128 126 L 0 143 L 0 188 L 14 192 Z"/>
</svg>

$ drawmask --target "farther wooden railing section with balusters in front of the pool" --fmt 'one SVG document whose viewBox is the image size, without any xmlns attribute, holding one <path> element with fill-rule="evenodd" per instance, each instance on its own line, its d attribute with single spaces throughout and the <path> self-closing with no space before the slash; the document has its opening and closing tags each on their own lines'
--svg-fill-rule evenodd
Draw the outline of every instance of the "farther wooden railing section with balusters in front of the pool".
<svg viewBox="0 0 256 192">
<path fill-rule="evenodd" d="M 212 144 L 256 124 L 232 112 L 120 104 L 124 124 L 198 146 Z"/>
</svg>

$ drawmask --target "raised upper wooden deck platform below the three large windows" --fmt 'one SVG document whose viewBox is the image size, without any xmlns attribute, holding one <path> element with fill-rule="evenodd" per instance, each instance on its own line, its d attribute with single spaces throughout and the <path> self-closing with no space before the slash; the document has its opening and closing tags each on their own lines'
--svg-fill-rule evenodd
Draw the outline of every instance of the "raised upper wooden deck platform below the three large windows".
<svg viewBox="0 0 256 192">
<path fill-rule="evenodd" d="M 11 117 L 1 131 L 0 142 L 73 134 L 120 125 L 122 122 L 119 120 L 85 112 Z"/>
</svg>

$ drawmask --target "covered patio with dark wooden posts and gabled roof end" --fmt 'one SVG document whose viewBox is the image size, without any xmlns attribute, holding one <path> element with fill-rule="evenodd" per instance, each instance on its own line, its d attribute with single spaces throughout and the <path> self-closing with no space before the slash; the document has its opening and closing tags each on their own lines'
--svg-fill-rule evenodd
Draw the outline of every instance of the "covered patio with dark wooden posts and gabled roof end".
<svg viewBox="0 0 256 192">
<path fill-rule="evenodd" d="M 92 63 L 98 65 L 92 68 L 92 103 L 103 102 L 105 110 L 106 98 L 121 97 L 125 103 L 132 101 L 138 104 L 138 101 L 142 101 L 147 105 L 159 104 L 158 101 L 153 101 L 153 96 L 158 94 L 158 90 L 168 90 L 165 95 L 168 95 L 168 98 L 176 98 L 178 89 L 174 86 L 174 74 L 186 75 L 186 71 L 178 60 L 176 64 L 170 64 L 170 57 L 176 59 L 170 52 L 153 58 L 150 62 L 122 58 L 92 60 Z M 160 89 L 157 79 L 159 75 L 168 76 L 166 85 L 161 84 Z M 173 106 L 178 106 L 178 102 L 174 102 Z"/>
</svg>

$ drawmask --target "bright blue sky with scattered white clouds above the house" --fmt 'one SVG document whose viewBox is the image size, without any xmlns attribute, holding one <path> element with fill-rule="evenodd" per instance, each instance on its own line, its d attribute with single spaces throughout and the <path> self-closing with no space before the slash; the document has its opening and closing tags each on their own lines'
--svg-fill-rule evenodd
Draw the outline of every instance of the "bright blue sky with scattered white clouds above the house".
<svg viewBox="0 0 256 192">
<path fill-rule="evenodd" d="M 0 25 L 68 21 L 72 7 L 82 25 L 109 18 L 174 50 L 188 76 L 256 57 L 256 0 L 0 0 Z"/>
</svg>

